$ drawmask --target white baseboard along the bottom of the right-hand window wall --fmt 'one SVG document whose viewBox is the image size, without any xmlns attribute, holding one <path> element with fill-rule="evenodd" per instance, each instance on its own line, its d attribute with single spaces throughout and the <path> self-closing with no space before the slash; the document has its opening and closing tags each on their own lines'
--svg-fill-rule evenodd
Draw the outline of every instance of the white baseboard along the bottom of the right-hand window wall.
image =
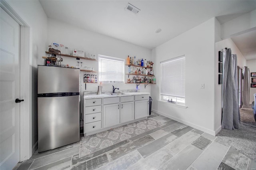
<svg viewBox="0 0 256 170">
<path fill-rule="evenodd" d="M 206 132 L 206 133 L 208 133 L 208 134 L 211 134 L 211 135 L 213 135 L 213 136 L 216 136 L 216 131 L 214 131 L 214 130 L 210 130 L 210 129 L 208 129 L 208 128 L 204 128 L 204 127 L 195 125 L 194 123 L 190 123 L 190 122 L 184 121 L 184 120 L 182 120 L 182 119 L 178 119 L 178 118 L 176 118 L 176 117 L 173 117 L 173 116 L 167 115 L 167 114 L 165 114 L 165 113 L 156 111 L 155 109 L 152 109 L 152 111 L 155 112 L 155 113 L 158 113 L 159 115 L 162 115 L 162 116 L 168 117 L 168 118 L 170 118 L 170 119 L 173 119 L 174 121 L 178 121 L 178 122 L 183 123 L 183 124 L 185 124 L 185 125 L 188 125 L 188 126 L 190 126 L 190 127 L 196 128 L 196 129 L 198 129 L 198 130 L 201 130 L 201 131 L 203 131 L 203 132 Z"/>
</svg>

